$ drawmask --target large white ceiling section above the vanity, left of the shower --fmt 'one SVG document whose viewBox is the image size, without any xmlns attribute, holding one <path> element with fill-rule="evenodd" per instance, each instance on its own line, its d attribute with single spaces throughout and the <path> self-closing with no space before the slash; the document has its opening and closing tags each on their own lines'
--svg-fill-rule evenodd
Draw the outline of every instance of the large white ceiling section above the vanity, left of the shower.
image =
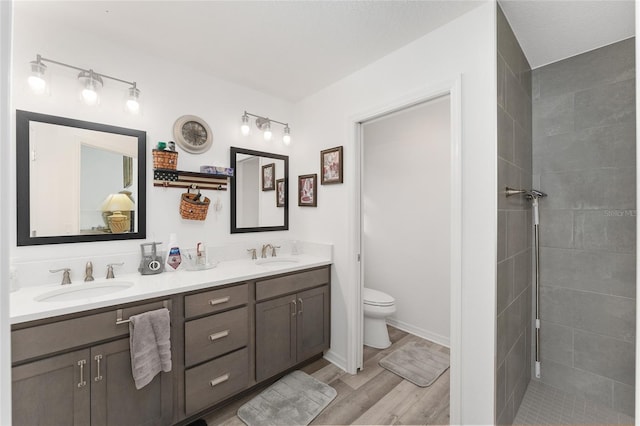
<svg viewBox="0 0 640 426">
<path fill-rule="evenodd" d="M 297 101 L 481 4 L 19 0 L 15 12 Z"/>
</svg>

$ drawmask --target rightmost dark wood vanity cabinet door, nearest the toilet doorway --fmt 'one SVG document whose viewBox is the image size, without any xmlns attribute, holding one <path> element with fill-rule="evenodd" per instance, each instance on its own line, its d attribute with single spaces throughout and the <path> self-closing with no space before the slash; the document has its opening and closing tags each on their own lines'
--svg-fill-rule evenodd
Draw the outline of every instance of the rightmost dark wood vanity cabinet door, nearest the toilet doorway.
<svg viewBox="0 0 640 426">
<path fill-rule="evenodd" d="M 302 362 L 329 348 L 329 286 L 303 291 L 296 297 L 297 362 Z"/>
</svg>

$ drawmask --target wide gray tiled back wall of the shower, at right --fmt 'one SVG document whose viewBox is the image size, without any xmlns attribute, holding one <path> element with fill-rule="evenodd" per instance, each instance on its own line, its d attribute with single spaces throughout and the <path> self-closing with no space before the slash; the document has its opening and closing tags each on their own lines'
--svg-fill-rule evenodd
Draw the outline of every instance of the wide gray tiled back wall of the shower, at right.
<svg viewBox="0 0 640 426">
<path fill-rule="evenodd" d="M 533 71 L 542 382 L 633 416 L 634 39 Z"/>
</svg>

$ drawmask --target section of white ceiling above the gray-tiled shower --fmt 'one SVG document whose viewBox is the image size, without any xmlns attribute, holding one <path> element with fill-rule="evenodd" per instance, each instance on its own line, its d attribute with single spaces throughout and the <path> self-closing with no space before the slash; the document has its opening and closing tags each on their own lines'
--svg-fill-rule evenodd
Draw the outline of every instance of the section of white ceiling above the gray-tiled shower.
<svg viewBox="0 0 640 426">
<path fill-rule="evenodd" d="M 634 0 L 499 0 L 531 68 L 635 35 Z"/>
</svg>

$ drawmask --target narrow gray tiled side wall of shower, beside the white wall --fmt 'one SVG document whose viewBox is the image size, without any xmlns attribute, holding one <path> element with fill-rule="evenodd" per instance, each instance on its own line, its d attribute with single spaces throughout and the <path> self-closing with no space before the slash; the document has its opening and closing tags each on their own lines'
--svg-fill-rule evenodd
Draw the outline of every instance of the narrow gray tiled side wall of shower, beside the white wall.
<svg viewBox="0 0 640 426">
<path fill-rule="evenodd" d="M 496 415 L 511 424 L 531 378 L 531 67 L 498 6 L 498 279 Z"/>
</svg>

